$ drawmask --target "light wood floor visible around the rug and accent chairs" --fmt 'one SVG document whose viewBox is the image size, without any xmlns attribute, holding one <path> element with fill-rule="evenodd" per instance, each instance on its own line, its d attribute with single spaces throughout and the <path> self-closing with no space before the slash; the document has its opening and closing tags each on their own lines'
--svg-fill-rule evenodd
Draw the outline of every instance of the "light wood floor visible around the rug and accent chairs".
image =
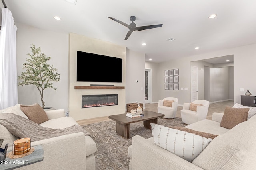
<svg viewBox="0 0 256 170">
<path fill-rule="evenodd" d="M 211 120 L 212 113 L 214 113 L 214 112 L 224 113 L 224 110 L 227 106 L 232 107 L 233 105 L 234 105 L 233 101 L 230 101 L 230 100 L 210 104 L 206 119 Z M 145 110 L 157 112 L 157 106 L 158 106 L 158 103 L 145 104 L 145 107 L 146 107 Z M 178 106 L 176 117 L 181 118 L 180 110 L 182 108 L 183 108 L 182 106 Z M 92 123 L 98 123 L 98 122 L 109 121 L 109 120 L 110 119 L 108 119 L 108 116 L 105 116 L 105 117 L 97 117 L 97 118 L 93 118 L 93 119 L 79 120 L 79 121 L 77 121 L 77 123 L 82 126 L 82 125 L 88 125 L 88 124 L 92 124 Z"/>
</svg>

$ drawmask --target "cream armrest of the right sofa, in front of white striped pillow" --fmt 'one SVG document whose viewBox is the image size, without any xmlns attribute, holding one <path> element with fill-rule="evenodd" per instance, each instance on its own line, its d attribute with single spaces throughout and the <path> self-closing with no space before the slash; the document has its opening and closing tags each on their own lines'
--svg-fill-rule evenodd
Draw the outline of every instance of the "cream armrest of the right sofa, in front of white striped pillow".
<svg viewBox="0 0 256 170">
<path fill-rule="evenodd" d="M 134 170 L 202 170 L 198 166 L 172 154 L 152 140 L 136 135 L 132 137 L 131 168 Z"/>
</svg>

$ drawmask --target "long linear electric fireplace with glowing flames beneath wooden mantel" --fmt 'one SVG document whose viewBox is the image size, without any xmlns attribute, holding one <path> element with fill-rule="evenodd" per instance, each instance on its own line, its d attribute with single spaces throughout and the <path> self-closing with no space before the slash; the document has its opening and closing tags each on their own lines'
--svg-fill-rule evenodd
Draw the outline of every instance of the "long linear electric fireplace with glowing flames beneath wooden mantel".
<svg viewBox="0 0 256 170">
<path fill-rule="evenodd" d="M 118 94 L 82 95 L 82 108 L 118 105 Z"/>
</svg>

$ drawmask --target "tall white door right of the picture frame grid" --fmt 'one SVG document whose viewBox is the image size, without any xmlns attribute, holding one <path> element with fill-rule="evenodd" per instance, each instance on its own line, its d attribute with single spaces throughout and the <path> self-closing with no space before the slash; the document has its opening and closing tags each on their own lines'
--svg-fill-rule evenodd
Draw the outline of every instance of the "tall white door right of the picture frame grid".
<svg viewBox="0 0 256 170">
<path fill-rule="evenodd" d="M 191 66 L 191 102 L 198 100 L 198 67 Z"/>
</svg>

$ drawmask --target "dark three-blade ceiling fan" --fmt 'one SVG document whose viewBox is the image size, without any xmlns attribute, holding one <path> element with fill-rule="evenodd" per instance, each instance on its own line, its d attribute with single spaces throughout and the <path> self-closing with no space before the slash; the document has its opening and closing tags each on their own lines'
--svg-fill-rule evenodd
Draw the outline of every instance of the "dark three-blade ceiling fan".
<svg viewBox="0 0 256 170">
<path fill-rule="evenodd" d="M 128 33 L 126 34 L 126 37 L 124 40 L 127 40 L 130 35 L 132 34 L 133 31 L 142 31 L 142 30 L 145 30 L 145 29 L 152 29 L 152 28 L 157 28 L 157 27 L 162 27 L 163 24 L 158 24 L 158 25 L 147 25 L 147 26 L 142 26 L 142 27 L 136 27 L 136 24 L 133 22 L 136 20 L 136 17 L 135 16 L 130 16 L 130 20 L 132 21 L 132 23 L 130 23 L 130 25 L 122 22 L 122 21 L 119 21 L 119 20 L 116 20 L 115 18 L 113 17 L 108 17 L 124 26 L 126 26 L 127 28 L 129 28 L 129 31 Z"/>
</svg>

